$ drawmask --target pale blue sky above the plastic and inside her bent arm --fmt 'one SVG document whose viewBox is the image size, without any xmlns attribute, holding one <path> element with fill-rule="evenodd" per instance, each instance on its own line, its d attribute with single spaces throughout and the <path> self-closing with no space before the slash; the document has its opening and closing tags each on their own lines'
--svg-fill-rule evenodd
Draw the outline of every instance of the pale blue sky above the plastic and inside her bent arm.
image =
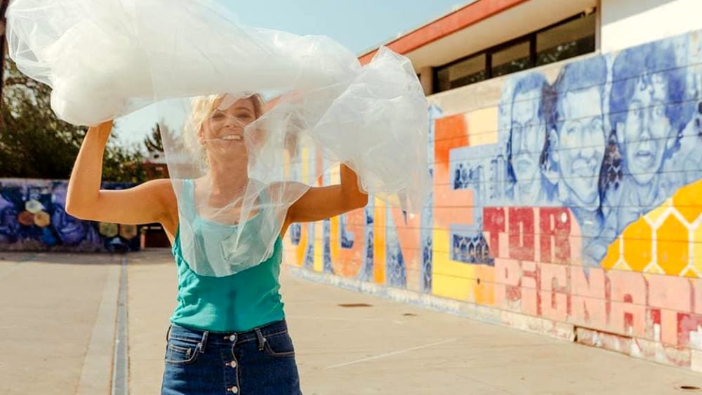
<svg viewBox="0 0 702 395">
<path fill-rule="evenodd" d="M 214 0 L 236 13 L 241 25 L 294 34 L 329 36 L 362 54 L 431 20 L 471 3 L 469 0 Z M 124 145 L 141 142 L 157 113 L 147 108 L 117 121 Z"/>
</svg>

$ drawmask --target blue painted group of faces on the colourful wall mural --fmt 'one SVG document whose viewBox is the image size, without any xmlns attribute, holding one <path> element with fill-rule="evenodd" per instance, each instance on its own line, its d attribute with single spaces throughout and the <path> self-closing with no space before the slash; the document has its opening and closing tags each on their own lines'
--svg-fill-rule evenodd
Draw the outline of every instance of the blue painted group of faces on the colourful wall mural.
<svg viewBox="0 0 702 395">
<path fill-rule="evenodd" d="M 454 189 L 474 189 L 476 206 L 569 208 L 583 234 L 583 262 L 599 265 L 623 229 L 702 174 L 702 116 L 694 111 L 702 108 L 702 85 L 689 83 L 701 73 L 685 48 L 662 40 L 515 74 L 499 105 L 505 145 L 461 147 L 460 163 L 451 163 Z M 455 182 L 479 168 L 497 169 L 484 191 L 481 183 Z M 470 255 L 451 236 L 453 259 Z"/>
</svg>

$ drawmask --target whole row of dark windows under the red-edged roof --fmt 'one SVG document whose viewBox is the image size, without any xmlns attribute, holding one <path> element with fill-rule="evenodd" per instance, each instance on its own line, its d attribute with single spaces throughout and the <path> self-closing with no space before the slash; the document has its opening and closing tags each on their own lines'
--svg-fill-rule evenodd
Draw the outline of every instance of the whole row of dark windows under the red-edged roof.
<svg viewBox="0 0 702 395">
<path fill-rule="evenodd" d="M 434 92 L 594 52 L 595 15 L 575 15 L 508 43 L 435 67 Z"/>
</svg>

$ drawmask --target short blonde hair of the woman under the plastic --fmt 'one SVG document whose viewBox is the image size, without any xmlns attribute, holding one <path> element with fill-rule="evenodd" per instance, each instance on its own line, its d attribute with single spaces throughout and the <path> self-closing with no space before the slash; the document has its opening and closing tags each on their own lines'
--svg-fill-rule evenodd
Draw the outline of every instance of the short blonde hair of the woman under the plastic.
<svg viewBox="0 0 702 395">
<path fill-rule="evenodd" d="M 199 96 L 192 99 L 190 115 L 185 121 L 185 128 L 183 130 L 183 147 L 185 147 L 187 152 L 190 152 L 201 168 L 206 168 L 207 166 L 207 152 L 205 146 L 201 144 L 198 138 L 199 132 L 202 126 L 204 126 L 204 123 L 216 112 L 220 103 L 227 95 L 228 93 L 224 93 Z M 263 116 L 264 103 L 261 95 L 253 93 L 249 96 L 241 96 L 241 98 L 251 100 L 255 119 L 259 119 Z"/>
</svg>

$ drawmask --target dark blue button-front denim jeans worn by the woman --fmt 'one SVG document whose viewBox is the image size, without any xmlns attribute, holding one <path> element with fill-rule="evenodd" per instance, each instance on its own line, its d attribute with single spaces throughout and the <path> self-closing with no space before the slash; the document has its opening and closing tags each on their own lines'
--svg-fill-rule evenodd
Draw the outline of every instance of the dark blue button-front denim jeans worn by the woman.
<svg viewBox="0 0 702 395">
<path fill-rule="evenodd" d="M 161 395 L 298 395 L 300 377 L 285 321 L 243 333 L 171 325 Z"/>
</svg>

